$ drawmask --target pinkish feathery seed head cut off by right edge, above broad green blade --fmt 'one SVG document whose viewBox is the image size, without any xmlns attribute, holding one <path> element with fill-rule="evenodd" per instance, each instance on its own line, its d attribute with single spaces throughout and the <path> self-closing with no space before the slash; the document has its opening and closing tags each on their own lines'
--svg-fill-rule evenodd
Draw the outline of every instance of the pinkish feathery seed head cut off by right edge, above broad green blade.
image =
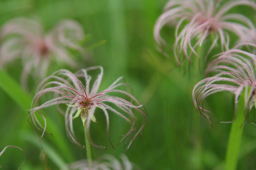
<svg viewBox="0 0 256 170">
<path fill-rule="evenodd" d="M 206 73 L 215 72 L 217 74 L 203 79 L 193 89 L 194 105 L 209 121 L 210 117 L 207 115 L 209 111 L 204 108 L 203 103 L 208 96 L 214 93 L 228 91 L 234 94 L 235 110 L 237 110 L 238 98 L 241 92 L 244 88 L 250 86 L 252 88 L 249 92 L 249 98 L 245 98 L 245 104 L 246 107 L 251 108 L 253 106 L 253 100 L 256 97 L 256 55 L 238 49 L 244 45 L 256 47 L 255 44 L 244 43 L 216 55 L 216 58 L 209 63 Z"/>
</svg>

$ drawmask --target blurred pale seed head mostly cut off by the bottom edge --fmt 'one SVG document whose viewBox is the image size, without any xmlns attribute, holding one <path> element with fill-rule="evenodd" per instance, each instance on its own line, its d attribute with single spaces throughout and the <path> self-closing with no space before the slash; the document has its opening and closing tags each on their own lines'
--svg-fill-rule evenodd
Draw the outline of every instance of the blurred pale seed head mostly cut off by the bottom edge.
<svg viewBox="0 0 256 170">
<path fill-rule="evenodd" d="M 87 160 L 79 160 L 69 165 L 70 170 L 134 170 L 134 164 L 127 156 L 121 155 L 122 162 L 111 155 L 103 155 L 101 161 L 93 162 L 91 166 Z"/>
</svg>

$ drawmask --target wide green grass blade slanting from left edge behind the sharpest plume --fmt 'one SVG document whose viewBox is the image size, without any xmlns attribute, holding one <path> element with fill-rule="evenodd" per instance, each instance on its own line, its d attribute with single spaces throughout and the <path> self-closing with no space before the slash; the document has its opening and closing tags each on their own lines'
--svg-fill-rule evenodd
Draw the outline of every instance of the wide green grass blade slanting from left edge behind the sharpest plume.
<svg viewBox="0 0 256 170">
<path fill-rule="evenodd" d="M 24 113 L 31 108 L 32 98 L 29 94 L 27 94 L 21 87 L 3 70 L 0 69 L 0 88 L 2 88 L 23 110 Z M 28 114 L 17 114 L 20 116 L 20 127 L 28 126 L 27 118 Z M 56 143 L 58 143 L 59 149 L 66 155 L 68 160 L 74 160 L 73 154 L 68 149 L 68 144 L 66 142 L 66 138 L 63 137 L 62 132 L 54 127 L 54 122 L 51 119 L 48 119 L 47 129 L 54 135 L 54 139 Z"/>
</svg>

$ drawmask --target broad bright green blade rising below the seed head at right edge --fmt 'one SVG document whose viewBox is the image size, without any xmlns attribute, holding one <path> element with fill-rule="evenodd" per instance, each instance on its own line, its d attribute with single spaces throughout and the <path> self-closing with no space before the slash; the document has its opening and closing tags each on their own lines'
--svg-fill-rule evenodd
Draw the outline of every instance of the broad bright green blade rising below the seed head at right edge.
<svg viewBox="0 0 256 170">
<path fill-rule="evenodd" d="M 246 118 L 246 108 L 244 99 L 248 95 L 249 91 L 250 88 L 247 88 L 247 92 L 246 90 L 244 90 L 238 101 L 237 118 L 232 123 L 228 141 L 228 149 L 226 155 L 226 170 L 235 170 L 237 167 L 238 155 L 243 133 L 243 123 Z"/>
</svg>

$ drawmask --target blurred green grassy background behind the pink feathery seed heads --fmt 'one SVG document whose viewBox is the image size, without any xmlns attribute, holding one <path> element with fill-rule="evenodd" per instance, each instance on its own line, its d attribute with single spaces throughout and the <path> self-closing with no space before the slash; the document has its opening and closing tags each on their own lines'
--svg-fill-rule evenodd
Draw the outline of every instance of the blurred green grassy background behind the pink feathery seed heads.
<svg viewBox="0 0 256 170">
<path fill-rule="evenodd" d="M 133 95 L 142 103 L 148 114 L 142 136 L 132 143 L 126 155 L 142 170 L 221 170 L 224 167 L 225 152 L 230 124 L 233 118 L 234 99 L 228 93 L 220 93 L 207 99 L 207 108 L 213 111 L 210 126 L 207 119 L 197 113 L 192 102 L 192 90 L 198 80 L 175 67 L 170 59 L 163 57 L 155 47 L 153 28 L 162 13 L 166 0 L 1 0 L 0 26 L 18 16 L 38 16 L 45 32 L 53 28 L 61 19 L 74 19 L 83 25 L 91 42 L 106 43 L 93 49 L 93 62 L 84 67 L 102 65 L 104 76 L 100 90 L 107 88 L 118 77 L 124 76 L 133 87 Z M 174 29 L 164 34 L 173 38 Z M 68 66 L 64 67 L 70 69 Z M 19 62 L 6 69 L 8 74 L 20 84 L 22 66 Z M 78 68 L 79 69 L 79 68 Z M 72 69 L 71 69 L 72 70 Z M 75 71 L 74 69 L 72 71 Z M 0 80 L 2 81 L 2 80 Z M 32 86 L 36 84 L 31 82 Z M 15 90 L 14 90 L 15 92 Z M 32 98 L 35 91 L 30 92 Z M 19 94 L 15 94 L 19 95 Z M 46 109 L 47 129 L 53 135 L 45 135 L 42 143 L 27 123 L 30 109 L 19 106 L 5 91 L 0 89 L 0 150 L 6 145 L 16 145 L 27 153 L 27 162 L 22 170 L 58 169 L 52 160 L 55 153 L 64 163 L 86 158 L 85 150 L 75 146 L 66 136 L 64 118 L 54 108 Z M 105 117 L 98 110 L 98 125 L 93 125 L 91 134 L 97 144 L 107 146 L 107 150 L 92 147 L 93 159 L 103 154 L 116 158 L 125 153 L 124 143 L 111 147 L 106 136 Z M 114 145 L 119 136 L 129 129 L 123 121 L 110 115 L 110 137 Z M 251 119 L 255 120 L 255 110 Z M 141 120 L 140 120 L 141 119 Z M 140 117 L 139 123 L 143 121 Z M 80 120 L 74 121 L 76 135 L 83 141 Z M 54 129 L 54 130 L 52 130 Z M 56 132 L 57 131 L 57 132 Z M 58 134 L 57 134 L 58 133 Z M 62 134 L 62 135 L 59 135 Z M 246 124 L 238 169 L 256 169 L 256 128 Z M 17 169 L 24 160 L 19 150 L 10 148 L 0 158 L 2 169 Z"/>
</svg>

